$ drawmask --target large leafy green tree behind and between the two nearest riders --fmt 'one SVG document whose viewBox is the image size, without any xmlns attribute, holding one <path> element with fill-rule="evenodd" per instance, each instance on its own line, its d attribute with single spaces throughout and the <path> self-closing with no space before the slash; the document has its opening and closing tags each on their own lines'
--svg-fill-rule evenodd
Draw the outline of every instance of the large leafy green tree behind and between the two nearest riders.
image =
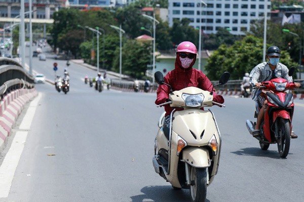
<svg viewBox="0 0 304 202">
<path fill-rule="evenodd" d="M 262 50 L 263 39 L 252 35 L 246 36 L 242 41 L 236 41 L 230 47 L 226 44 L 220 45 L 207 60 L 206 75 L 210 80 L 217 80 L 224 71 L 227 71 L 231 74 L 231 79 L 241 79 L 245 72 L 251 72 L 263 61 Z M 288 68 L 297 65 L 286 51 L 281 51 L 280 63 Z"/>
</svg>

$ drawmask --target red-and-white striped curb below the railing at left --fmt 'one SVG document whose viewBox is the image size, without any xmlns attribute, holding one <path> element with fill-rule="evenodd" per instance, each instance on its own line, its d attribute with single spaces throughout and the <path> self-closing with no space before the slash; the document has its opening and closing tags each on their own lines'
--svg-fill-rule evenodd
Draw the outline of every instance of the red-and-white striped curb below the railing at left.
<svg viewBox="0 0 304 202">
<path fill-rule="evenodd" d="M 6 138 L 22 112 L 24 106 L 31 101 L 38 92 L 35 88 L 17 89 L 7 94 L 0 102 L 0 151 L 5 146 Z"/>
</svg>

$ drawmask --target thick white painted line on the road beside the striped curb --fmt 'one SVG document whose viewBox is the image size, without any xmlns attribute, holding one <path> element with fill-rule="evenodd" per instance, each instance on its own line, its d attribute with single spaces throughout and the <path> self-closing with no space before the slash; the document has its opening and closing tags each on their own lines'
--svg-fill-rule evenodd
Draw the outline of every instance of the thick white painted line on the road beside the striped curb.
<svg viewBox="0 0 304 202">
<path fill-rule="evenodd" d="M 39 95 L 29 104 L 29 108 L 21 122 L 20 129 L 30 128 L 40 98 L 41 93 L 39 93 Z M 6 198 L 9 196 L 15 171 L 26 142 L 27 133 L 28 131 L 16 132 L 12 145 L 0 166 L 0 198 Z"/>
</svg>

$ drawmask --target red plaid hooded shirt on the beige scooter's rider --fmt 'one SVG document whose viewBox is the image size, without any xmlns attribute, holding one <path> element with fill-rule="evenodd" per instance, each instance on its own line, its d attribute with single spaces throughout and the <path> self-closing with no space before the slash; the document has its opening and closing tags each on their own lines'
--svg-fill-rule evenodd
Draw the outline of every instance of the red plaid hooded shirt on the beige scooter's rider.
<svg viewBox="0 0 304 202">
<path fill-rule="evenodd" d="M 179 56 L 178 56 L 179 57 Z M 192 64 L 192 66 L 194 63 Z M 179 59 L 175 61 L 175 69 L 168 72 L 164 78 L 164 82 L 171 85 L 172 90 L 181 90 L 186 87 L 194 86 L 203 90 L 212 90 L 212 83 L 208 77 L 200 70 L 189 67 L 184 69 L 181 67 Z M 157 98 L 155 104 L 160 105 L 166 102 L 169 98 L 170 87 L 167 85 L 159 85 L 157 89 Z M 221 95 L 215 93 L 213 89 L 213 101 L 217 103 L 224 103 L 224 98 Z M 174 108 L 169 105 L 165 105 L 166 116 L 170 115 Z M 176 108 L 176 110 L 183 110 L 182 108 Z"/>
</svg>

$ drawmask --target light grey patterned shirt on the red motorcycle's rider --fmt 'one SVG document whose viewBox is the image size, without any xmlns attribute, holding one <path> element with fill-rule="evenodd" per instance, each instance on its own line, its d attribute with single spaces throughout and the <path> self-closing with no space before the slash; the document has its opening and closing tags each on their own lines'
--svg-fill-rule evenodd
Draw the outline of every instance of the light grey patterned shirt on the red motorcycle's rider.
<svg viewBox="0 0 304 202">
<path fill-rule="evenodd" d="M 288 83 L 292 82 L 292 77 L 288 76 L 289 69 L 282 63 L 278 63 L 275 69 L 275 75 L 277 78 L 284 78 Z M 261 83 L 263 81 L 269 81 L 272 79 L 272 70 L 267 62 L 260 63 L 255 66 L 250 72 L 250 84 L 254 86 L 256 83 Z M 256 101 L 259 95 L 260 89 L 253 88 L 251 93 L 251 98 Z"/>
</svg>

